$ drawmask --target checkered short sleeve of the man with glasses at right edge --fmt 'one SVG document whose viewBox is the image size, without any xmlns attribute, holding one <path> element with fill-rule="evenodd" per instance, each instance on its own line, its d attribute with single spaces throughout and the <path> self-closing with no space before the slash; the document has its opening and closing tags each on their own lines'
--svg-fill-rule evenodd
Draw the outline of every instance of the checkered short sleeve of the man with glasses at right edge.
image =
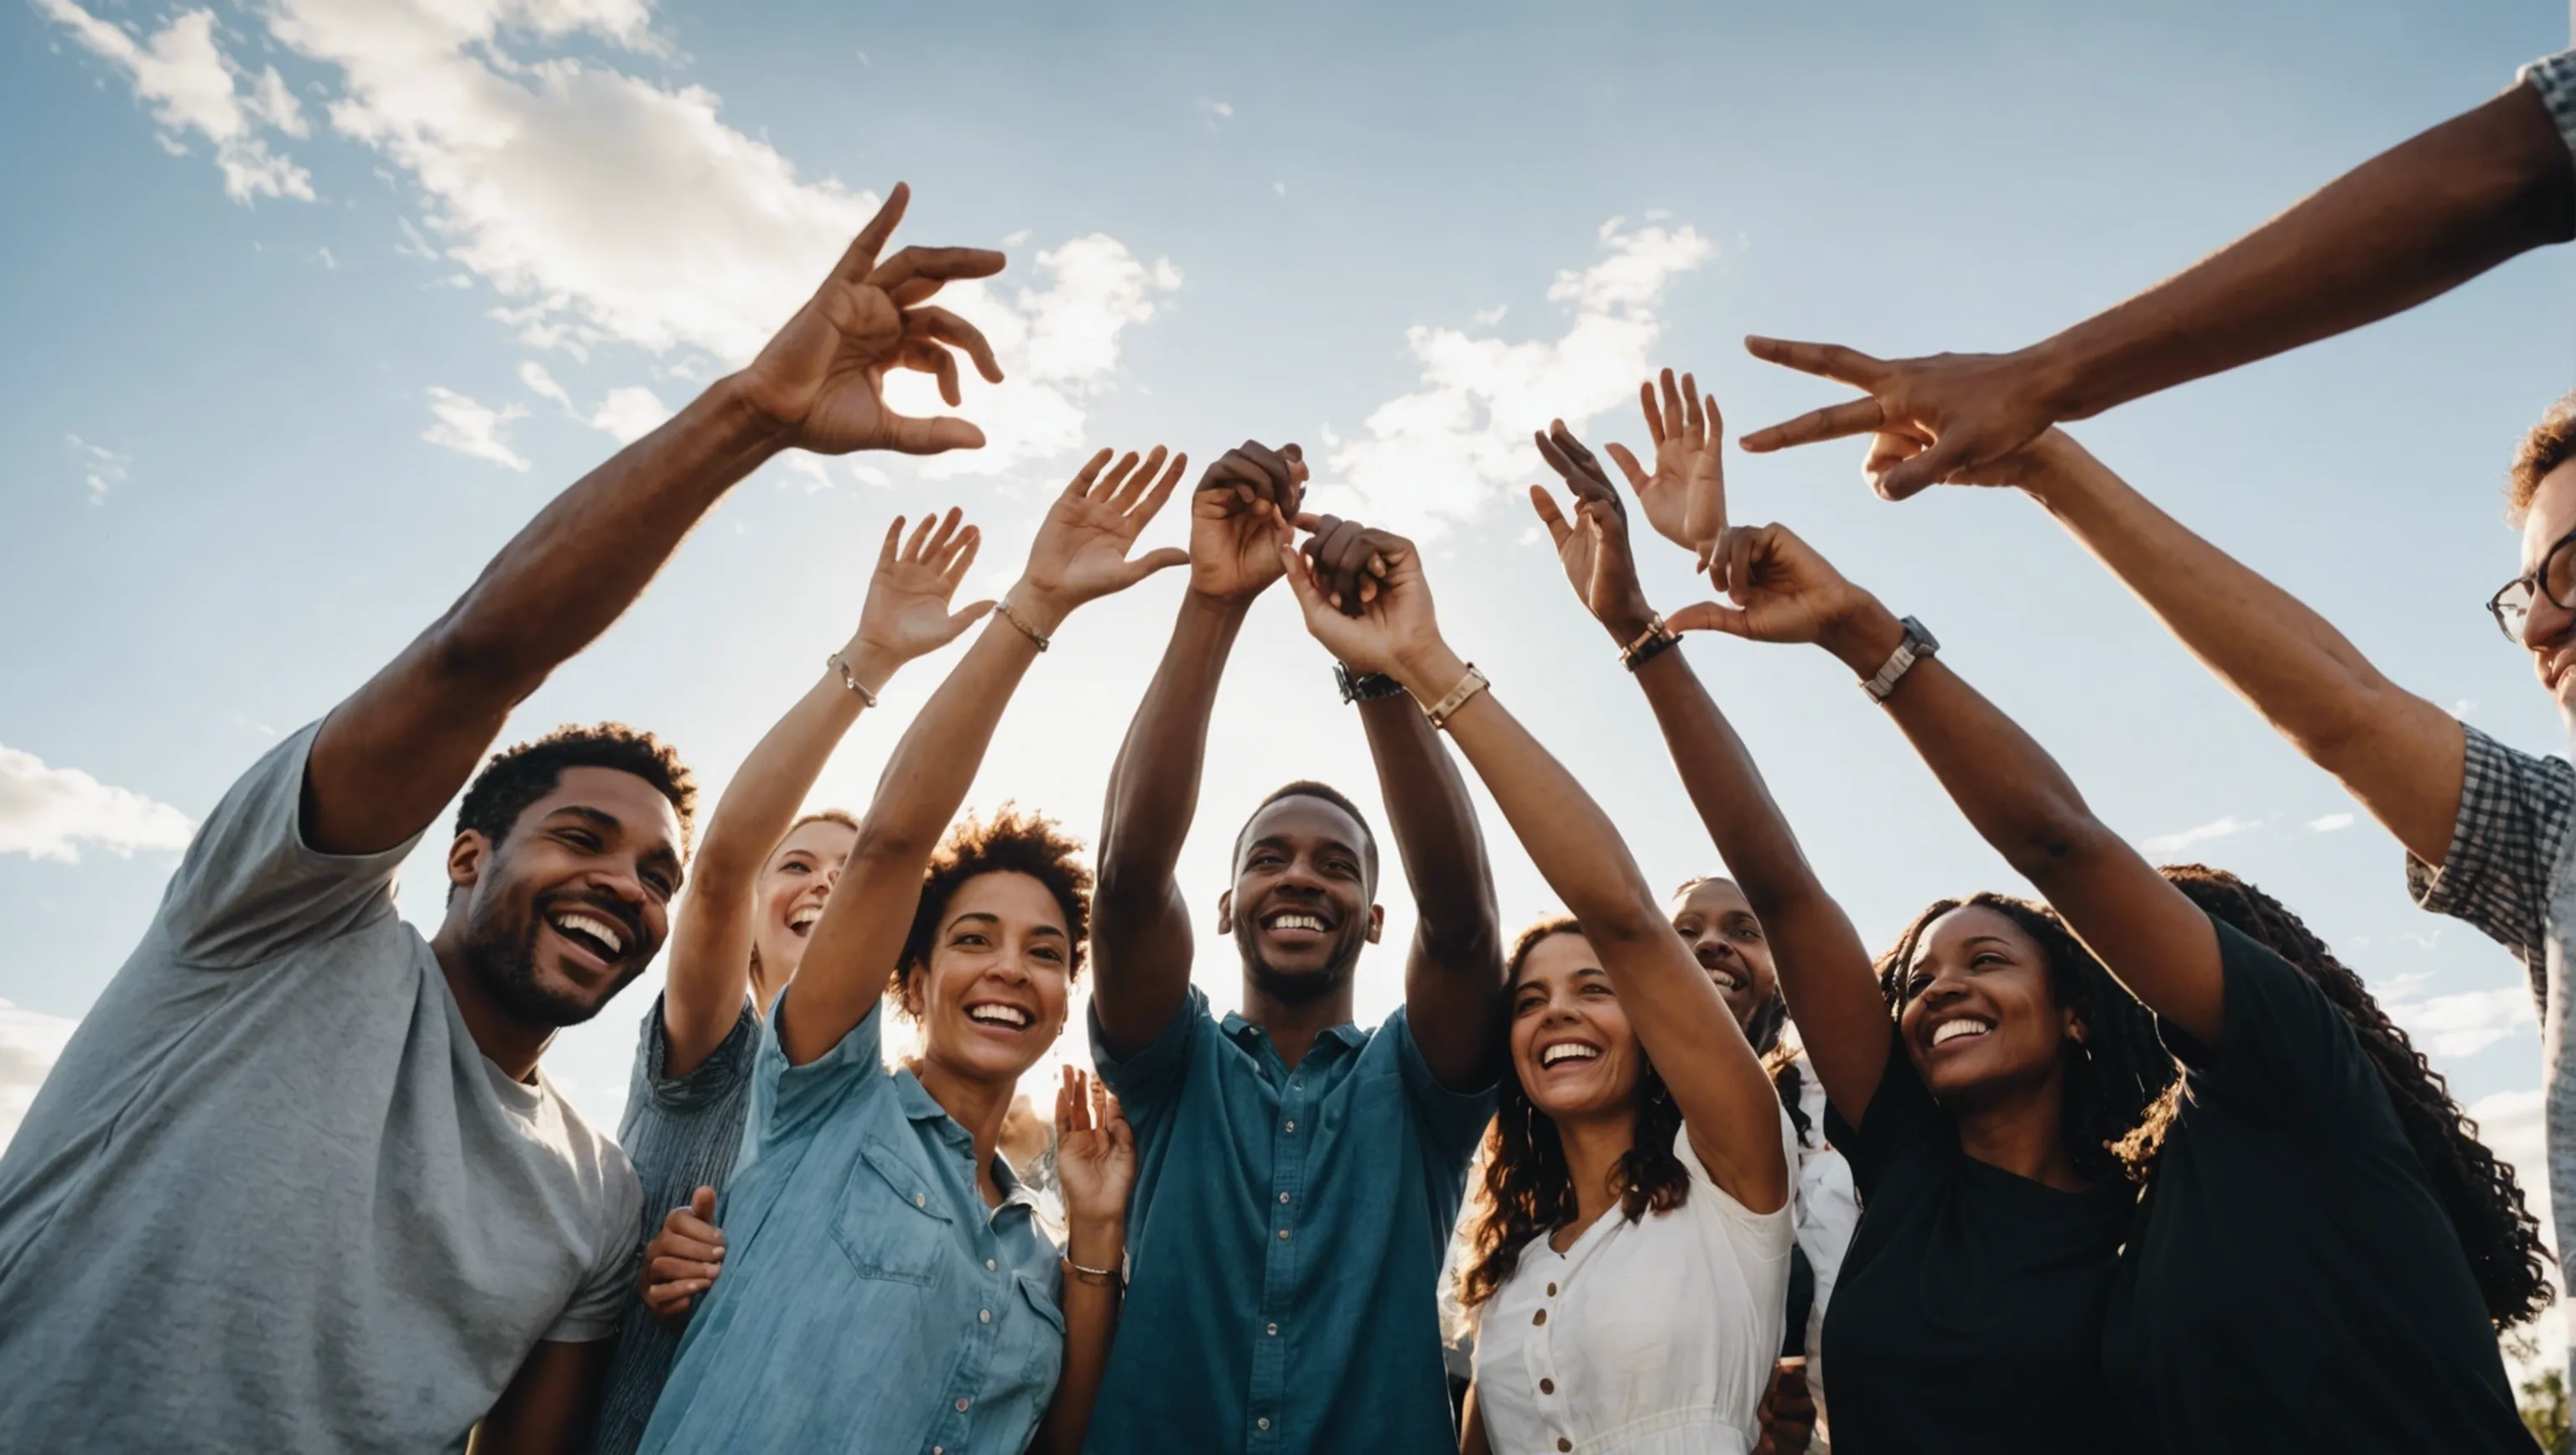
<svg viewBox="0 0 2576 1455">
<path fill-rule="evenodd" d="M 2442 868 L 2406 855 L 2416 906 L 2476 925 L 2522 958 L 2548 999 L 2548 909 L 2558 850 L 2576 827 L 2576 765 L 2514 752 L 2463 724 L 2460 816 Z"/>
</svg>

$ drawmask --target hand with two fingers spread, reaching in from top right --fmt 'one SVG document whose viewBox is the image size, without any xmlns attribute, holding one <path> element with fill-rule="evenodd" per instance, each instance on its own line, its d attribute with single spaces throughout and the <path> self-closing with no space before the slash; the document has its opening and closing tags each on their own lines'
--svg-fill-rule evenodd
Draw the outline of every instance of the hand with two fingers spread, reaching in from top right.
<svg viewBox="0 0 2576 1455">
<path fill-rule="evenodd" d="M 1744 435 L 1754 453 L 1844 435 L 1880 435 L 1870 451 L 1870 484 L 1904 500 L 1927 484 L 1981 484 L 1976 471 L 2035 440 L 2061 415 L 2045 381 L 2022 353 L 1935 353 L 1870 358 L 1834 343 L 1747 337 L 1754 358 L 1862 389 L 1865 399 L 1832 404 Z M 1901 451 L 1911 443 L 1914 451 Z"/>
</svg>

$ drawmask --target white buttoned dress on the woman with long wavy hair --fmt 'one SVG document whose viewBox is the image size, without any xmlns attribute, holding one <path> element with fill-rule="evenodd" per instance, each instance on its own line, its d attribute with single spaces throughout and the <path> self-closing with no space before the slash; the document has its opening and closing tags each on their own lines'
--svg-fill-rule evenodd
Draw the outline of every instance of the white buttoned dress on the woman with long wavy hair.
<svg viewBox="0 0 2576 1455">
<path fill-rule="evenodd" d="M 1788 1164 L 1798 1167 L 1780 1115 Z M 1674 1136 L 1690 1195 L 1571 1249 L 1535 1239 L 1479 1311 L 1476 1409 L 1494 1455 L 1744 1455 L 1780 1355 L 1790 1205 L 1749 1213 Z"/>
</svg>

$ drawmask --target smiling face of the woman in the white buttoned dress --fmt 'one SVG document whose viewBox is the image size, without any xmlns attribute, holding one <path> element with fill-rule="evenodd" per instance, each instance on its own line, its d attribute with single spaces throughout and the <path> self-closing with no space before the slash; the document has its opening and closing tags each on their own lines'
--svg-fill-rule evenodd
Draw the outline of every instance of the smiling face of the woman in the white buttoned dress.
<svg viewBox="0 0 2576 1455">
<path fill-rule="evenodd" d="M 1574 930 L 1530 945 L 1512 979 L 1512 1071 L 1556 1123 L 1633 1115 L 1646 1053 L 1592 943 Z"/>
</svg>

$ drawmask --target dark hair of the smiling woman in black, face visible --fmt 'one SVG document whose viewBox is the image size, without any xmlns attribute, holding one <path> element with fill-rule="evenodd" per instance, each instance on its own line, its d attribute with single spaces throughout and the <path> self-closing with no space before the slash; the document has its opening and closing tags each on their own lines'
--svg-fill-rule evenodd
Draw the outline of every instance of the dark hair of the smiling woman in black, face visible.
<svg viewBox="0 0 2576 1455">
<path fill-rule="evenodd" d="M 1878 961 L 1878 989 L 1888 999 L 1888 1015 L 1901 1017 L 1906 1009 L 1906 976 L 1924 930 L 1953 909 L 1991 909 L 2038 943 L 2048 961 L 2050 989 L 2084 1022 L 2084 1043 L 2066 1064 L 2066 1138 L 2076 1172 L 2092 1182 L 2112 1177 L 2143 1182 L 2151 1149 L 2133 1146 L 2130 1133 L 2156 1110 L 2179 1071 L 2156 1038 L 2156 1017 L 2102 968 L 2056 909 L 2009 894 L 1935 899 Z"/>
</svg>

